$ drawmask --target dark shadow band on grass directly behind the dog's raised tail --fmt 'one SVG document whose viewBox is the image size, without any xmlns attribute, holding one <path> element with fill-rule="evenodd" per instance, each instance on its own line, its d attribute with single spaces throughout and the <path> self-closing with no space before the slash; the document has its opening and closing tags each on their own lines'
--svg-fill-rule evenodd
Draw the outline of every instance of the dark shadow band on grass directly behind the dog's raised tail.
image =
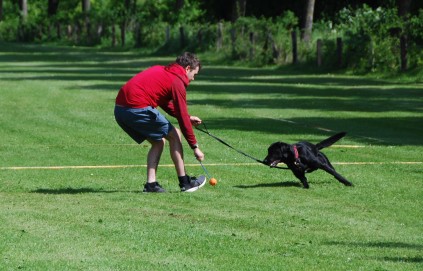
<svg viewBox="0 0 423 271">
<path fill-rule="evenodd" d="M 210 133 L 221 137 L 222 130 L 237 130 L 244 132 L 259 131 L 263 134 L 280 135 L 278 141 L 294 143 L 310 141 L 317 143 L 318 139 L 295 137 L 287 140 L 289 135 L 311 134 L 327 137 L 340 131 L 346 131 L 346 138 L 352 138 L 363 144 L 377 145 L 422 145 L 421 117 L 393 118 L 350 118 L 348 120 L 329 117 L 296 117 L 296 118 L 203 118 Z M 363 123 L 365 124 L 363 126 Z M 395 123 L 395 125 L 393 125 Z M 273 137 L 272 137 L 273 138 Z M 225 140 L 225 138 L 223 137 Z M 230 138 L 227 139 L 230 144 Z M 263 142 L 268 139 L 263 136 Z M 226 141 L 226 140 L 225 140 Z M 270 145 L 272 140 L 268 142 Z"/>
</svg>

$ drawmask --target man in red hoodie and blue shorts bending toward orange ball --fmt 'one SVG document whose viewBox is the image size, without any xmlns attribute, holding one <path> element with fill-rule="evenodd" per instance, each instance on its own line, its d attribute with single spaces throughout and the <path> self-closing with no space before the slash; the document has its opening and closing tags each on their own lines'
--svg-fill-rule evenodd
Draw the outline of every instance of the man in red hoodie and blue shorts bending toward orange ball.
<svg viewBox="0 0 423 271">
<path fill-rule="evenodd" d="M 138 144 L 144 140 L 151 144 L 144 192 L 165 192 L 156 179 L 165 139 L 169 142 L 181 191 L 193 192 L 206 183 L 205 176 L 195 178 L 186 175 L 181 142 L 182 131 L 197 160 L 204 159 L 192 128 L 201 124 L 201 119 L 188 114 L 186 101 L 186 87 L 200 69 L 199 59 L 185 52 L 177 57 L 175 63 L 153 66 L 138 73 L 119 90 L 115 106 L 117 123 Z M 178 120 L 181 131 L 157 110 L 158 106 Z"/>
</svg>

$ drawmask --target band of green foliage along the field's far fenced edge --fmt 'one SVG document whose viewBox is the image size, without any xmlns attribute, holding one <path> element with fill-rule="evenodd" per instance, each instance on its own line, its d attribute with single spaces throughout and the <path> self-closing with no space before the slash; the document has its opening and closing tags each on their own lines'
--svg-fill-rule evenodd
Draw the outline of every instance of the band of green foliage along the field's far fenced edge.
<svg viewBox="0 0 423 271">
<path fill-rule="evenodd" d="M 125 6 L 129 3 L 129 6 Z M 292 63 L 291 32 L 298 35 L 298 62 L 316 67 L 316 42 L 323 43 L 323 67 L 335 70 L 336 39 L 344 44 L 343 67 L 357 73 L 394 73 L 400 67 L 400 36 L 407 37 L 410 70 L 423 62 L 423 10 L 401 18 L 395 8 L 344 8 L 337 17 L 314 22 L 310 43 L 301 41 L 299 18 L 289 10 L 272 18 L 241 17 L 216 22 L 206 17 L 200 0 L 93 0 L 88 14 L 80 0 L 61 1 L 57 14 L 48 16 L 44 0 L 28 3 L 21 18 L 15 1 L 4 1 L 1 41 L 56 42 L 101 48 L 133 47 L 174 54 L 183 50 L 216 54 L 222 61 L 251 66 Z M 209 5 L 210 6 L 210 5 Z M 374 5 L 373 5 L 374 6 Z M 385 6 L 394 7 L 394 1 Z M 218 23 L 223 32 L 218 33 Z M 218 44 L 222 36 L 221 46 Z"/>
</svg>

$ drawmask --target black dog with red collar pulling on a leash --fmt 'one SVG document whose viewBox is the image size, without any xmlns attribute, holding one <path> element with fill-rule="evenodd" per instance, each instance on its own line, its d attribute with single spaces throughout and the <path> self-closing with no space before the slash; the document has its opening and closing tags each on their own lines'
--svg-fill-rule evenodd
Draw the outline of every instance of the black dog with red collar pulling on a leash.
<svg viewBox="0 0 423 271">
<path fill-rule="evenodd" d="M 336 134 L 316 145 L 305 141 L 298 142 L 294 145 L 283 142 L 273 143 L 268 148 L 267 156 L 264 158 L 263 163 L 271 167 L 276 167 L 280 162 L 285 163 L 294 173 L 295 177 L 300 179 L 304 188 L 309 187 L 305 173 L 317 169 L 323 169 L 327 173 L 332 174 L 344 185 L 351 186 L 352 183 L 337 173 L 326 155 L 320 152 L 321 149 L 329 147 L 345 135 L 345 132 Z"/>
</svg>

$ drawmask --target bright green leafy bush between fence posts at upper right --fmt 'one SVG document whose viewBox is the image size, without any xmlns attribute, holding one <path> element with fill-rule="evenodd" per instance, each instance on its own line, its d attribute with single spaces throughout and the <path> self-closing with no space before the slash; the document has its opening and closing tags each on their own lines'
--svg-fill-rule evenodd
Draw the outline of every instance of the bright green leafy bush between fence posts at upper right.
<svg viewBox="0 0 423 271">
<path fill-rule="evenodd" d="M 343 9 L 339 34 L 345 44 L 346 65 L 358 72 L 392 72 L 399 69 L 399 39 L 392 29 L 401 29 L 396 9 Z"/>
</svg>

